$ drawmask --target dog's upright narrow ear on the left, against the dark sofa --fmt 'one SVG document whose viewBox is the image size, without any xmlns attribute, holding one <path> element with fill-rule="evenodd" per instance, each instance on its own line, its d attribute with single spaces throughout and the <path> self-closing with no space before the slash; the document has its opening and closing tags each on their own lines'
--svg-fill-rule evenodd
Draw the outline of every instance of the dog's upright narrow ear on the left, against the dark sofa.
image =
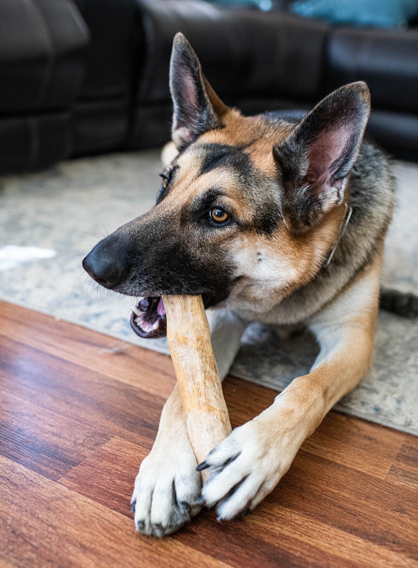
<svg viewBox="0 0 418 568">
<path fill-rule="evenodd" d="M 173 142 L 181 151 L 199 136 L 223 126 L 228 107 L 203 76 L 197 55 L 183 34 L 174 37 L 170 61 Z"/>
</svg>

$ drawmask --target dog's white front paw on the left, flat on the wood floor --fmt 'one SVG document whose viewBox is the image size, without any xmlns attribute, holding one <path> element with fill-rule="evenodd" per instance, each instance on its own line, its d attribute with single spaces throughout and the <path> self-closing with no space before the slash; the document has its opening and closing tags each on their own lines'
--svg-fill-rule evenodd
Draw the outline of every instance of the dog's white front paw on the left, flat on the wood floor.
<svg viewBox="0 0 418 568">
<path fill-rule="evenodd" d="M 131 499 L 137 531 L 163 537 L 197 515 L 202 482 L 196 466 L 190 444 L 158 448 L 144 459 Z"/>
</svg>

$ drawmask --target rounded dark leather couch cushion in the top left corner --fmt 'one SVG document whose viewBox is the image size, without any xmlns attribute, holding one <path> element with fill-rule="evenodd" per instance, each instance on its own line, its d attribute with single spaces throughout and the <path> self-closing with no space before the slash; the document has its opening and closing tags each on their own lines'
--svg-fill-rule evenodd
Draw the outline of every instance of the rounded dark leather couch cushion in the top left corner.
<svg viewBox="0 0 418 568">
<path fill-rule="evenodd" d="M 0 112 L 64 108 L 89 40 L 72 0 L 0 0 Z"/>
</svg>

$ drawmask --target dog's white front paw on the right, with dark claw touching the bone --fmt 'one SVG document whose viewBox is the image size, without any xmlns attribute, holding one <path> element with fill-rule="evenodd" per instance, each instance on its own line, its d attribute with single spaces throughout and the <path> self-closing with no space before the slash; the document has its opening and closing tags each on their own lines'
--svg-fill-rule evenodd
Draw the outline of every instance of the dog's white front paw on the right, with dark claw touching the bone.
<svg viewBox="0 0 418 568">
<path fill-rule="evenodd" d="M 236 428 L 208 453 L 200 502 L 216 506 L 218 520 L 249 513 L 277 485 L 295 452 L 281 447 L 277 429 L 262 415 Z"/>
</svg>

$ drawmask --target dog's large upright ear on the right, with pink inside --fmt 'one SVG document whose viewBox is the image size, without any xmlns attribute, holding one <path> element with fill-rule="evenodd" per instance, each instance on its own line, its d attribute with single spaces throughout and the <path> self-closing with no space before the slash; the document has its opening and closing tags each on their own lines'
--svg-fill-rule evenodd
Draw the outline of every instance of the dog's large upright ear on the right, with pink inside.
<svg viewBox="0 0 418 568">
<path fill-rule="evenodd" d="M 283 214 L 296 232 L 319 223 L 344 199 L 369 112 L 366 83 L 350 83 L 323 99 L 273 147 L 283 185 Z"/>
</svg>

